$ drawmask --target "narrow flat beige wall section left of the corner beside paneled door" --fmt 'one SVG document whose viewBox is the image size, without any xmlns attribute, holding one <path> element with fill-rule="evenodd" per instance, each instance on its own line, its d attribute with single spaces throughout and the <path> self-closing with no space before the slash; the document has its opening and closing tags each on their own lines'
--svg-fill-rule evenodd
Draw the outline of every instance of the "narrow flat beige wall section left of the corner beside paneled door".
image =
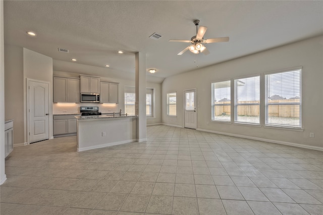
<svg viewBox="0 0 323 215">
<path fill-rule="evenodd" d="M 23 48 L 5 45 L 5 118 L 14 119 L 14 144 L 24 139 Z"/>
</svg>

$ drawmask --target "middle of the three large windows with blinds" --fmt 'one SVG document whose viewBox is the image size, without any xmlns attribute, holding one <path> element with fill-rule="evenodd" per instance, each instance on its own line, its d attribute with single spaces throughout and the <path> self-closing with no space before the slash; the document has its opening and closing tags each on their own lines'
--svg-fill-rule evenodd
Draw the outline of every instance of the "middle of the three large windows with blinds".
<svg viewBox="0 0 323 215">
<path fill-rule="evenodd" d="M 260 76 L 234 80 L 234 121 L 259 124 Z"/>
</svg>

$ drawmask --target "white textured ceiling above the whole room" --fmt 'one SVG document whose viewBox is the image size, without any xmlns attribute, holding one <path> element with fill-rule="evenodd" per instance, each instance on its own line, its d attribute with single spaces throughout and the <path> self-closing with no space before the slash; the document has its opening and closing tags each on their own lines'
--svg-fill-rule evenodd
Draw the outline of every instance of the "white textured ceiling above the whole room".
<svg viewBox="0 0 323 215">
<path fill-rule="evenodd" d="M 77 72 L 79 65 L 109 74 L 134 73 L 137 51 L 146 53 L 147 80 L 235 59 L 323 33 L 322 1 L 5 1 L 5 43 L 54 59 L 54 70 Z M 207 26 L 210 54 L 177 53 L 196 34 L 193 20 Z M 25 32 L 33 30 L 36 37 Z M 148 38 L 152 33 L 159 40 Z M 70 53 L 58 51 L 67 48 Z M 120 55 L 118 50 L 125 53 Z M 71 62 L 76 58 L 76 63 Z M 104 68 L 109 64 L 110 68 Z"/>
</svg>

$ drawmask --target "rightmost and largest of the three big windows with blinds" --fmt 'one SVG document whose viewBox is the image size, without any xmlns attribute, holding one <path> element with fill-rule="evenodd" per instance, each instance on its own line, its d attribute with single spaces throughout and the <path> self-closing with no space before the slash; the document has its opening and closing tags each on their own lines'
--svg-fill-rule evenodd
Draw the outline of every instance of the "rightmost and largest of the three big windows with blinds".
<svg viewBox="0 0 323 215">
<path fill-rule="evenodd" d="M 265 75 L 265 125 L 301 128 L 301 69 Z"/>
</svg>

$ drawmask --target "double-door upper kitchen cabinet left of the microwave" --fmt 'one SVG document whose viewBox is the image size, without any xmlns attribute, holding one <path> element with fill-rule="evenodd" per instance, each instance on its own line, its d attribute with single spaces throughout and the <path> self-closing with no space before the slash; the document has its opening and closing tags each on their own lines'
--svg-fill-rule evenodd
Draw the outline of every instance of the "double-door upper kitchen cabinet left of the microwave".
<svg viewBox="0 0 323 215">
<path fill-rule="evenodd" d="M 80 102 L 80 79 L 53 77 L 53 102 Z"/>
</svg>

